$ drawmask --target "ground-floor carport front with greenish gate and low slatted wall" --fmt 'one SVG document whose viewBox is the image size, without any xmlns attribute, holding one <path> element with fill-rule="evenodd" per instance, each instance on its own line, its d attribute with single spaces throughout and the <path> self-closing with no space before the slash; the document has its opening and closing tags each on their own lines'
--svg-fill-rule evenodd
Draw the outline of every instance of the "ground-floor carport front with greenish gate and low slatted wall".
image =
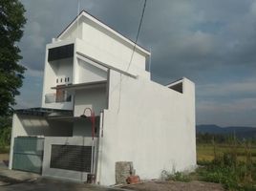
<svg viewBox="0 0 256 191">
<path fill-rule="evenodd" d="M 86 181 L 88 174 L 96 172 L 99 121 L 95 117 L 92 141 L 89 117 L 43 108 L 15 111 L 10 169 Z"/>
</svg>

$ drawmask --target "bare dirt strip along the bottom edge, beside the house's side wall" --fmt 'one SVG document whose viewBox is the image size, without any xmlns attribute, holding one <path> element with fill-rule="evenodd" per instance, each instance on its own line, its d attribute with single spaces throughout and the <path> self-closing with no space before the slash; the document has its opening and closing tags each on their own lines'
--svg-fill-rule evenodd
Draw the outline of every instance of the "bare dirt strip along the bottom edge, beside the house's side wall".
<svg viewBox="0 0 256 191">
<path fill-rule="evenodd" d="M 203 181 L 148 181 L 122 188 L 136 191 L 224 191 L 221 184 Z"/>
</svg>

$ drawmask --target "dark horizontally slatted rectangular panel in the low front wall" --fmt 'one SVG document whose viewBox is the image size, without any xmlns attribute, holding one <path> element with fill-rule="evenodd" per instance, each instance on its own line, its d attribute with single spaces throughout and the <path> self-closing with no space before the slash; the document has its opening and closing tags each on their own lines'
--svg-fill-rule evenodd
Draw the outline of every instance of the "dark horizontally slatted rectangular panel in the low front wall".
<svg viewBox="0 0 256 191">
<path fill-rule="evenodd" d="M 91 172 L 92 146 L 52 145 L 50 168 Z"/>
</svg>

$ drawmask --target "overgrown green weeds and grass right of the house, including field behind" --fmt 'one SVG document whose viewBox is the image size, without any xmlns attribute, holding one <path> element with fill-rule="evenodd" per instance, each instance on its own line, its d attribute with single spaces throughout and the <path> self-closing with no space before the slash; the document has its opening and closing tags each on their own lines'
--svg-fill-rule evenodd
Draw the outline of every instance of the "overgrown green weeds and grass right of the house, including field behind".
<svg viewBox="0 0 256 191">
<path fill-rule="evenodd" d="M 235 138 L 226 144 L 198 144 L 199 180 L 222 183 L 227 190 L 256 191 L 256 146 Z"/>
</svg>

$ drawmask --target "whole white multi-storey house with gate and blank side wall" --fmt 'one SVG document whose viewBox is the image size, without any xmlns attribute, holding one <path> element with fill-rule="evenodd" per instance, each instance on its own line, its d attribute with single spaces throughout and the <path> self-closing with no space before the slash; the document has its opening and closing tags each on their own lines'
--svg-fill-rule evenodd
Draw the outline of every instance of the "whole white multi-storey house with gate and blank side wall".
<svg viewBox="0 0 256 191">
<path fill-rule="evenodd" d="M 193 169 L 194 83 L 152 81 L 149 56 L 81 11 L 46 46 L 42 107 L 13 115 L 10 168 L 103 185 L 120 161 L 142 180 Z"/>
</svg>

